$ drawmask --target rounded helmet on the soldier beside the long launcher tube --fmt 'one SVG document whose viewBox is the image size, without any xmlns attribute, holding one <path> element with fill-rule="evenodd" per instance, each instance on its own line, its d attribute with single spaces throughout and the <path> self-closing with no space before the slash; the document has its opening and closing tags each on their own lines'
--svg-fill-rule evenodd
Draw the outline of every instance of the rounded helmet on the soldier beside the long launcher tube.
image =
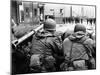
<svg viewBox="0 0 100 75">
<path fill-rule="evenodd" d="M 56 22 L 53 19 L 47 19 L 44 22 L 43 27 L 45 30 L 55 31 L 56 30 Z"/>
</svg>

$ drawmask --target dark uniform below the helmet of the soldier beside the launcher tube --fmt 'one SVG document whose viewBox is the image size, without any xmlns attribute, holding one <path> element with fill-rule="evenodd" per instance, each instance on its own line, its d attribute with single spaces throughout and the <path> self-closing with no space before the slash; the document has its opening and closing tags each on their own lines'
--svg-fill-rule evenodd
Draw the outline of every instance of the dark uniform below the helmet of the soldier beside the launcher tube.
<svg viewBox="0 0 100 75">
<path fill-rule="evenodd" d="M 38 64 L 43 65 L 46 71 L 56 71 L 56 59 L 63 55 L 61 43 L 60 37 L 49 32 L 37 33 L 33 36 L 31 55 L 37 55 Z M 35 62 L 32 60 L 30 66 Z"/>
</svg>

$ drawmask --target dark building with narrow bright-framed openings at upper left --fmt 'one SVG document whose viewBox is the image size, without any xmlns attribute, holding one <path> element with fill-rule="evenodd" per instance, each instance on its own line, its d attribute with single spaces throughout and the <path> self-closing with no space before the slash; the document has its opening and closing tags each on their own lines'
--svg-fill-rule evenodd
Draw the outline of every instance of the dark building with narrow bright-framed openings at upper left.
<svg viewBox="0 0 100 75">
<path fill-rule="evenodd" d="M 36 25 L 44 19 L 44 4 L 38 2 L 11 1 L 11 18 L 19 25 Z"/>
</svg>

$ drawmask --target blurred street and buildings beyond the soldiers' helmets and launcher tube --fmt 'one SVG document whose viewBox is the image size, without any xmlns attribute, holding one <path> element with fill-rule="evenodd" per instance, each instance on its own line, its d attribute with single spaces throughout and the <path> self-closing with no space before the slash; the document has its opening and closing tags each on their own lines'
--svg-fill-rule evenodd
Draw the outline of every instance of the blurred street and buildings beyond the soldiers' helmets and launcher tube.
<svg viewBox="0 0 100 75">
<path fill-rule="evenodd" d="M 96 7 L 11 0 L 11 28 L 14 33 L 11 34 L 14 36 L 12 40 L 16 39 L 16 35 L 23 36 L 37 28 L 48 18 L 56 21 L 57 31 L 65 32 L 79 23 L 85 25 L 87 31 L 95 32 Z"/>
</svg>

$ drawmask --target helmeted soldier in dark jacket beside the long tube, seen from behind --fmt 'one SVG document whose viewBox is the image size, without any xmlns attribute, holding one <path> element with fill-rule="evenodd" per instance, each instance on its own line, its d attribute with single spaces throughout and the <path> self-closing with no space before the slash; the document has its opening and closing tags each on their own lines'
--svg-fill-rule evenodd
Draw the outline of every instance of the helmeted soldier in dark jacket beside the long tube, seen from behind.
<svg viewBox="0 0 100 75">
<path fill-rule="evenodd" d="M 62 40 L 60 36 L 55 35 L 56 22 L 53 19 L 47 19 L 44 22 L 42 32 L 37 32 L 33 36 L 30 68 L 32 72 L 53 72 L 63 55 Z M 56 62 L 58 64 L 56 64 Z"/>
</svg>

